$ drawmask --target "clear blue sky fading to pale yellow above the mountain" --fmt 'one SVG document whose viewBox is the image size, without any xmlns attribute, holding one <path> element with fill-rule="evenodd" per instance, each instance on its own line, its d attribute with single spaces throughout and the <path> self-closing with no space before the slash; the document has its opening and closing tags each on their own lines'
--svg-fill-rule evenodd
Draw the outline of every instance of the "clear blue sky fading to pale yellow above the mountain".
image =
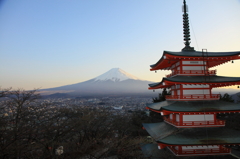
<svg viewBox="0 0 240 159">
<path fill-rule="evenodd" d="M 240 51 L 240 0 L 186 0 L 196 51 Z M 111 68 L 150 71 L 164 50 L 181 51 L 182 0 L 0 0 L 0 87 L 52 88 Z M 240 60 L 214 67 L 240 76 Z M 234 88 L 237 88 L 236 86 Z"/>
</svg>

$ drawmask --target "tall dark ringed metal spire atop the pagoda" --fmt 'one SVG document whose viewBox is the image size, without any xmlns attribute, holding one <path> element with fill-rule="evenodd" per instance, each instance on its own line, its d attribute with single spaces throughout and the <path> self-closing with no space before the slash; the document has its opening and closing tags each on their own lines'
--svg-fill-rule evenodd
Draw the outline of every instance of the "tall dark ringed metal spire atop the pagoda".
<svg viewBox="0 0 240 159">
<path fill-rule="evenodd" d="M 182 51 L 195 51 L 194 47 L 190 47 L 190 29 L 189 29 L 189 22 L 188 22 L 188 8 L 186 5 L 186 1 L 183 0 L 183 37 L 184 37 L 184 44 L 185 47 Z"/>
</svg>

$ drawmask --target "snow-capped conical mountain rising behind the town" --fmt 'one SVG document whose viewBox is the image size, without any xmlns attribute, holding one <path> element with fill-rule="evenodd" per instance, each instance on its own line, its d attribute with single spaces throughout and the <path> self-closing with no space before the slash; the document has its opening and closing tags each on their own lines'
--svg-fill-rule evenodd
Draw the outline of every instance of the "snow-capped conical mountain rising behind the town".
<svg viewBox="0 0 240 159">
<path fill-rule="evenodd" d="M 120 68 L 113 68 L 85 82 L 42 89 L 40 93 L 64 93 L 64 96 L 151 95 L 151 91 L 148 90 L 149 83 L 152 81 L 139 79 Z"/>
</svg>

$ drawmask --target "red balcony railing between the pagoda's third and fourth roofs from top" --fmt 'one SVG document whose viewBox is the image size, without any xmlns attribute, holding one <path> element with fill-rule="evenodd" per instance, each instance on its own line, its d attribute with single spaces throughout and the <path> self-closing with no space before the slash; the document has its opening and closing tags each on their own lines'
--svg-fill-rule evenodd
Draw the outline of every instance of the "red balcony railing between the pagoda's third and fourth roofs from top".
<svg viewBox="0 0 240 159">
<path fill-rule="evenodd" d="M 176 127 L 219 127 L 219 126 L 225 126 L 225 120 L 219 120 L 216 119 L 216 121 L 173 121 L 172 119 L 169 119 L 167 117 L 163 117 L 164 121 L 174 125 Z"/>
</svg>

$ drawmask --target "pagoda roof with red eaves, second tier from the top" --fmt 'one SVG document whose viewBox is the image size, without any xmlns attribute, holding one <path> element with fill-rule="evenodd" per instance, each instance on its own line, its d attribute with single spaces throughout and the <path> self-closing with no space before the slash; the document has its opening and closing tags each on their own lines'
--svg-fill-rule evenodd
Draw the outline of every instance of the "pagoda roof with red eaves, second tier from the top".
<svg viewBox="0 0 240 159">
<path fill-rule="evenodd" d="M 213 87 L 223 87 L 240 84 L 240 77 L 226 76 L 174 76 L 163 78 L 161 82 L 149 84 L 148 89 L 167 88 L 176 84 L 210 84 Z"/>
</svg>

